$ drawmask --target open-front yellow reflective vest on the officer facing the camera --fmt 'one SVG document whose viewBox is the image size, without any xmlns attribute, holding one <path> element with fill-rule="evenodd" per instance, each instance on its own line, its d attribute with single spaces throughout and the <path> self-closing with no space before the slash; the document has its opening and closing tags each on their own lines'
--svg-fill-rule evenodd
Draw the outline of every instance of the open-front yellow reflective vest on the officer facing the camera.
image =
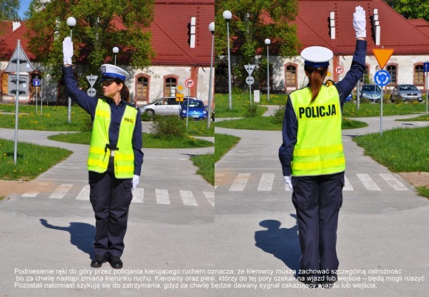
<svg viewBox="0 0 429 297">
<path fill-rule="evenodd" d="M 132 133 L 134 131 L 137 109 L 126 105 L 119 126 L 118 143 L 114 156 L 114 171 L 116 178 L 132 178 L 134 175 L 134 152 L 132 150 Z M 98 173 L 106 172 L 109 165 L 110 150 L 109 126 L 111 111 L 104 99 L 98 99 L 92 127 L 91 145 L 88 155 L 88 170 Z"/>
</svg>

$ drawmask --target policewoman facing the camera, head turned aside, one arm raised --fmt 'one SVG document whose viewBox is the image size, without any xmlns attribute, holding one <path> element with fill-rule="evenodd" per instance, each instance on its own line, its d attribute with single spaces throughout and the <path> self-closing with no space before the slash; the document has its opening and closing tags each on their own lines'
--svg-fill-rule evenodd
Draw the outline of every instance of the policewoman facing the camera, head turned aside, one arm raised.
<svg viewBox="0 0 429 297">
<path fill-rule="evenodd" d="M 81 91 L 73 76 L 73 43 L 63 41 L 65 88 L 73 100 L 86 110 L 93 120 L 88 155 L 90 201 L 95 212 L 95 258 L 91 267 L 101 267 L 109 261 L 112 268 L 122 268 L 131 190 L 138 182 L 143 162 L 141 152 L 140 113 L 128 103 L 125 86 L 128 73 L 120 67 L 104 64 L 100 67 L 104 95 L 90 97 Z"/>
</svg>

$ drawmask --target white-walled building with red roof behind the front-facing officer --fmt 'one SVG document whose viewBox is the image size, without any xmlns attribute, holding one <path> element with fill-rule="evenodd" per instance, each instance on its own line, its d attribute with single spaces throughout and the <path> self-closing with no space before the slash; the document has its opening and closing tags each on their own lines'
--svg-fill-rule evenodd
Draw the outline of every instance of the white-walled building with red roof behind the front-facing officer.
<svg viewBox="0 0 429 297">
<path fill-rule="evenodd" d="M 154 20 L 148 30 L 152 32 L 152 48 L 156 55 L 151 66 L 131 69 L 127 82 L 130 97 L 136 104 L 142 105 L 163 96 L 175 95 L 181 89 L 176 88 L 184 86 L 185 80 L 189 78 L 194 81 L 194 86 L 189 90 L 184 88 L 182 93 L 187 96 L 189 91 L 190 96 L 208 100 L 212 37 L 208 25 L 214 21 L 214 15 L 215 0 L 155 1 Z M 28 29 L 25 22 L 4 21 L 0 26 L 1 93 L 4 100 L 10 100 L 11 96 L 7 96 L 9 73 L 4 70 L 17 46 L 17 40 L 21 40 L 21 46 L 30 60 L 35 56 L 27 48 Z M 106 61 L 111 62 L 110 57 L 106 57 Z M 117 65 L 129 68 L 126 61 L 121 59 L 118 59 Z M 38 70 L 43 72 L 43 66 Z M 29 75 L 31 80 L 37 73 Z M 58 101 L 61 96 L 65 98 L 61 94 L 59 82 L 46 82 L 46 90 L 50 94 L 47 100 Z M 31 100 L 31 96 L 20 97 L 20 100 Z"/>
</svg>

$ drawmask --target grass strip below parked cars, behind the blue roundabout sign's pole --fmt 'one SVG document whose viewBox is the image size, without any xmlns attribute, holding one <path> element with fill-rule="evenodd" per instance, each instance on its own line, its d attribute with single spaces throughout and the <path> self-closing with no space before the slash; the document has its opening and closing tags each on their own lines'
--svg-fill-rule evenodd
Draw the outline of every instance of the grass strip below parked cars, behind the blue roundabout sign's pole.
<svg viewBox="0 0 429 297">
<path fill-rule="evenodd" d="M 426 111 L 426 105 L 418 102 L 411 103 L 385 103 L 383 104 L 383 115 L 403 115 L 421 113 Z M 374 117 L 380 116 L 380 104 L 362 103 L 359 110 L 356 110 L 356 104 L 347 102 L 344 104 L 343 116 L 345 117 Z"/>
</svg>

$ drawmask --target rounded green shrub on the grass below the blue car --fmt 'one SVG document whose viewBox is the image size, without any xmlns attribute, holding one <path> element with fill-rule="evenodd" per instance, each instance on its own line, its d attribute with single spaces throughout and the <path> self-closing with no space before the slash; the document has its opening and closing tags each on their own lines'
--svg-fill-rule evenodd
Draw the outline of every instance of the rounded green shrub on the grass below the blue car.
<svg viewBox="0 0 429 297">
<path fill-rule="evenodd" d="M 185 122 L 180 120 L 178 116 L 154 116 L 152 126 L 149 128 L 151 133 L 156 138 L 172 139 L 175 137 L 186 136 Z"/>
</svg>

